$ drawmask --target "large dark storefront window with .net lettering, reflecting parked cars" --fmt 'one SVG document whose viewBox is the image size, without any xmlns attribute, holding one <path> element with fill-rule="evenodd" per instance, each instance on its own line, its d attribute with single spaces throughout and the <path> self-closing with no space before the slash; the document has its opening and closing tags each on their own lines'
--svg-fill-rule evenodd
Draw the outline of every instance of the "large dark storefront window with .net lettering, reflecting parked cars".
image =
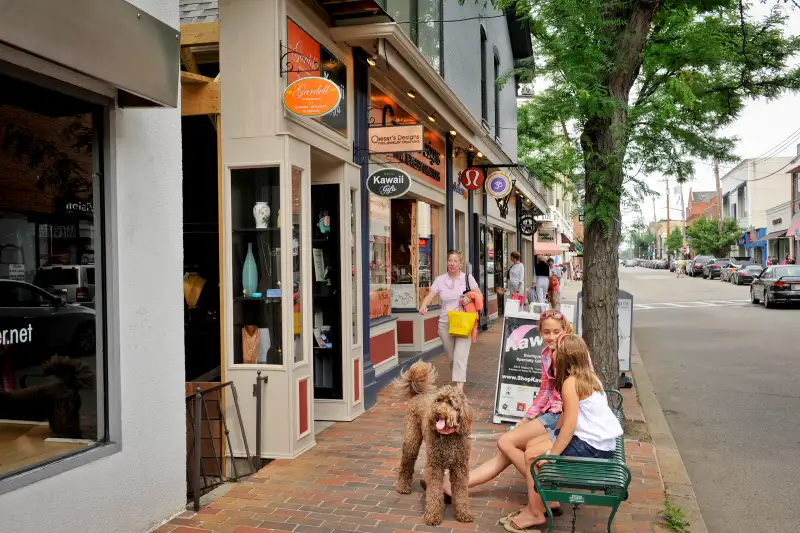
<svg viewBox="0 0 800 533">
<path fill-rule="evenodd" d="M 102 111 L 0 87 L 2 479 L 105 441 L 107 409 Z"/>
</svg>

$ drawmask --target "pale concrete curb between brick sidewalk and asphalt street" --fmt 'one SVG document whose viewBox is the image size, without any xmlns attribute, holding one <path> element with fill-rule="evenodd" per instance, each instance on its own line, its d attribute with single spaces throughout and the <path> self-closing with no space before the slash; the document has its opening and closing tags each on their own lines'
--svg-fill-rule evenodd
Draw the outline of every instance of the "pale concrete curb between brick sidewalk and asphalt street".
<svg viewBox="0 0 800 533">
<path fill-rule="evenodd" d="M 664 483 L 664 491 L 670 502 L 681 509 L 691 523 L 690 533 L 708 533 L 706 522 L 700 513 L 697 504 L 697 497 L 692 488 L 686 466 L 683 464 L 678 446 L 669 429 L 664 411 L 658 403 L 653 383 L 647 374 L 644 361 L 639 354 L 639 347 L 636 339 L 631 339 L 631 369 L 633 370 L 633 381 L 639 392 L 639 403 L 642 406 L 644 417 L 647 420 L 647 428 L 653 439 L 653 447 L 656 450 L 656 461 L 661 471 L 661 479 Z"/>
</svg>

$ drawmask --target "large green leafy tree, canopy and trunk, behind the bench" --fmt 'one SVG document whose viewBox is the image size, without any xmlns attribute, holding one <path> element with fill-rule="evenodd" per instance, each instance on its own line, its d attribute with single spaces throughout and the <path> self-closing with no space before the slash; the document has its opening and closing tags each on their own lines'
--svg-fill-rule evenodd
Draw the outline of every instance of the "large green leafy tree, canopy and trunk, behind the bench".
<svg viewBox="0 0 800 533">
<path fill-rule="evenodd" d="M 622 210 L 641 201 L 629 184 L 641 195 L 647 173 L 680 181 L 694 159 L 735 160 L 717 131 L 749 99 L 800 89 L 800 39 L 770 1 L 757 20 L 739 0 L 495 0 L 533 34 L 533 58 L 507 76 L 537 88 L 519 111 L 520 161 L 545 182 L 583 181 L 583 335 L 606 385 L 619 371 Z"/>
</svg>

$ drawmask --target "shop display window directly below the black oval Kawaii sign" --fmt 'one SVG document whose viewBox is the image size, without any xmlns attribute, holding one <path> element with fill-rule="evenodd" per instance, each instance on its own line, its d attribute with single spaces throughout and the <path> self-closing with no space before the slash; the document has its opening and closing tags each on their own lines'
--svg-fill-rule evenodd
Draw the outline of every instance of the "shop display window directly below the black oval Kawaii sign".
<svg viewBox="0 0 800 533">
<path fill-rule="evenodd" d="M 371 318 L 391 309 L 416 309 L 439 274 L 439 210 L 422 201 L 374 195 L 370 207 Z"/>
</svg>

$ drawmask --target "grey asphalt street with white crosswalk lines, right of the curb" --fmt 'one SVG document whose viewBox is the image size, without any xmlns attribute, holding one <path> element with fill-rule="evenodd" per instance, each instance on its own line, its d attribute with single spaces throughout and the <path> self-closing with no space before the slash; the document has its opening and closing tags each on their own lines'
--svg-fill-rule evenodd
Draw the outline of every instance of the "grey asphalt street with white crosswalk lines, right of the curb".
<svg viewBox="0 0 800 533">
<path fill-rule="evenodd" d="M 620 267 L 634 335 L 711 533 L 800 531 L 800 309 Z"/>
</svg>

